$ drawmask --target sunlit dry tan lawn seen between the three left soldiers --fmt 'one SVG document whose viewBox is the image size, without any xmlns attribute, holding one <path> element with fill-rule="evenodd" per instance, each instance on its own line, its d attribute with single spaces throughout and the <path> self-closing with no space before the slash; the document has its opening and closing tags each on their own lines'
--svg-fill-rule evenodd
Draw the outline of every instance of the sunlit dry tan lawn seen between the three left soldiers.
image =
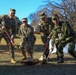
<svg viewBox="0 0 76 75">
<path fill-rule="evenodd" d="M 39 58 L 40 55 L 42 54 L 42 42 L 40 39 L 40 35 L 36 35 L 36 43 L 35 43 L 35 48 L 34 48 L 34 58 Z M 15 44 L 19 45 L 21 42 L 20 38 L 15 38 Z M 9 51 L 6 45 L 6 42 L 4 39 L 1 40 L 1 46 L 0 46 L 0 61 L 9 61 L 10 60 L 10 56 L 9 56 Z M 8 58 L 8 59 L 6 59 Z M 16 60 L 20 60 L 22 58 L 22 54 L 21 51 L 19 50 L 15 50 L 15 59 Z"/>
</svg>

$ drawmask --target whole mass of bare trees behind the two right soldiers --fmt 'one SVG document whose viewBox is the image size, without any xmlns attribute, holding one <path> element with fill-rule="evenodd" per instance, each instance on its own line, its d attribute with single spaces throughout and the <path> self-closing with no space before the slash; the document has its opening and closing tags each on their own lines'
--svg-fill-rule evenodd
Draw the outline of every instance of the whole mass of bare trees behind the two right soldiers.
<svg viewBox="0 0 76 75">
<path fill-rule="evenodd" d="M 68 21 L 76 29 L 76 0 L 44 0 L 45 4 L 37 8 L 37 12 L 30 14 L 32 25 L 38 25 L 39 13 L 44 11 L 48 17 L 56 13 L 61 20 Z"/>
</svg>

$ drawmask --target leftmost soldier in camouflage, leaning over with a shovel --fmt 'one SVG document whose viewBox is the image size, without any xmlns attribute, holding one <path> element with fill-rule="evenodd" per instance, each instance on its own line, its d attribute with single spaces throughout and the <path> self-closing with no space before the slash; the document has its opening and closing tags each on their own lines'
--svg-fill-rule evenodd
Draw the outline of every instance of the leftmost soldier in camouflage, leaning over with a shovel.
<svg viewBox="0 0 76 75">
<path fill-rule="evenodd" d="M 11 39 L 14 41 L 14 37 L 16 35 L 16 22 L 13 17 L 15 16 L 15 13 L 15 9 L 10 9 L 8 15 L 3 15 L 0 28 L 0 40 L 3 37 L 8 45 L 8 48 L 10 50 L 11 63 L 16 63 L 14 59 L 14 46 L 12 45 L 11 40 L 9 39 L 5 31 L 7 31 Z"/>
</svg>

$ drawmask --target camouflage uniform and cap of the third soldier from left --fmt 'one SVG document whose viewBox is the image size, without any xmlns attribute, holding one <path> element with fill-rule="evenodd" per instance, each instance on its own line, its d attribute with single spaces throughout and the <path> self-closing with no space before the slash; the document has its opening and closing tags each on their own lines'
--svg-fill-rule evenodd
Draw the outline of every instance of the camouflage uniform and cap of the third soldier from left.
<svg viewBox="0 0 76 75">
<path fill-rule="evenodd" d="M 40 13 L 40 18 L 45 18 L 46 17 L 46 14 L 44 12 Z M 40 34 L 41 34 L 41 40 L 42 42 L 44 43 L 44 46 L 46 45 L 48 39 L 48 35 L 49 33 L 52 31 L 53 29 L 53 23 L 52 23 L 52 20 L 51 18 L 46 18 L 47 21 L 44 22 L 44 21 L 41 21 L 41 24 L 40 24 Z M 47 48 L 45 48 L 45 51 L 43 53 L 43 55 L 48 56 L 49 54 L 49 45 Z"/>
</svg>

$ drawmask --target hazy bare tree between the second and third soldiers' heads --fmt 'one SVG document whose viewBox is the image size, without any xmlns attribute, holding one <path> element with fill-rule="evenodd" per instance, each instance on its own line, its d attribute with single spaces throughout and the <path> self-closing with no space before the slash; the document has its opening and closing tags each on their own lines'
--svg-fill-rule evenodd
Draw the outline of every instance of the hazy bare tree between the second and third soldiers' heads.
<svg viewBox="0 0 76 75">
<path fill-rule="evenodd" d="M 41 12 L 45 12 L 47 17 L 51 17 L 51 13 L 50 13 L 50 10 L 48 8 L 43 8 L 41 9 L 40 7 L 38 8 L 39 10 L 37 10 L 36 13 L 32 13 L 30 14 L 29 16 L 29 19 L 31 21 L 31 25 L 33 26 L 34 30 L 38 31 L 39 30 L 39 23 L 40 23 L 40 17 L 39 17 L 39 14 Z M 41 9 L 41 10 L 40 10 Z"/>
</svg>

